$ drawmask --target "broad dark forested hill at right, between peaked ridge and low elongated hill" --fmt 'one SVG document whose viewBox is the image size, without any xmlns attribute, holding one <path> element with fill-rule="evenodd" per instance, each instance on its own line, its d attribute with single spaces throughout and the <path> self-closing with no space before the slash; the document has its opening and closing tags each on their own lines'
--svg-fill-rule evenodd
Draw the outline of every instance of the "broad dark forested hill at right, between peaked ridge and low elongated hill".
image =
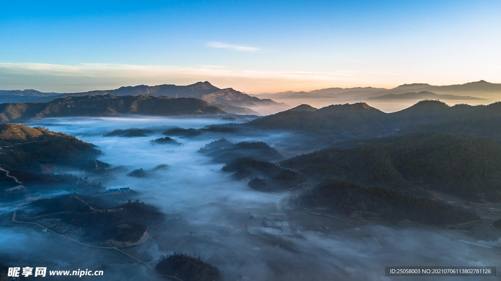
<svg viewBox="0 0 501 281">
<path fill-rule="evenodd" d="M 440 132 L 352 140 L 282 166 L 397 189 L 431 187 L 465 199 L 501 198 L 501 144 Z M 482 195 L 484 194 L 484 195 Z"/>
</svg>

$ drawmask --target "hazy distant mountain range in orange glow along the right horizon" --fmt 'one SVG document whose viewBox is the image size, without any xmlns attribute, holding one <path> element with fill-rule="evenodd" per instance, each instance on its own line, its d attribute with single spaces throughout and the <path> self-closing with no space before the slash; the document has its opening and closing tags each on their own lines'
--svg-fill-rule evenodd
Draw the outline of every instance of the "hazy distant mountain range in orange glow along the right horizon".
<svg viewBox="0 0 501 281">
<path fill-rule="evenodd" d="M 325 88 L 309 92 L 285 91 L 262 93 L 259 97 L 294 99 L 294 98 L 339 98 L 339 99 L 496 99 L 501 94 L 501 83 L 489 83 L 484 80 L 465 84 L 436 86 L 426 83 L 403 84 L 395 88 Z M 472 95 L 472 96 L 471 96 Z"/>
</svg>

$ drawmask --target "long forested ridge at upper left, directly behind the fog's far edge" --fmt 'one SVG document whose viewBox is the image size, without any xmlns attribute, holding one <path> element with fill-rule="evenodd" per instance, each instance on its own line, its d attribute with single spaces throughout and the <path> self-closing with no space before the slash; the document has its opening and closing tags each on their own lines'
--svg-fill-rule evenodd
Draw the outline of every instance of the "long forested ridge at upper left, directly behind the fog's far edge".
<svg viewBox="0 0 501 281">
<path fill-rule="evenodd" d="M 201 115 L 225 113 L 219 107 L 198 98 L 166 96 L 86 95 L 58 98 L 50 102 L 2 103 L 0 122 L 42 117 L 138 115 Z"/>
</svg>

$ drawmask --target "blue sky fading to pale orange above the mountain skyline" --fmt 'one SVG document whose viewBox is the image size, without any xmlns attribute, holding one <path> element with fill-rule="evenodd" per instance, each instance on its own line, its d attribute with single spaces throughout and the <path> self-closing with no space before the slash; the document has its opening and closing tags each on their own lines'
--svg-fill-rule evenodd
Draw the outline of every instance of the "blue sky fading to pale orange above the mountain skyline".
<svg viewBox="0 0 501 281">
<path fill-rule="evenodd" d="M 0 89 L 501 83 L 499 0 L 0 4 Z"/>
</svg>

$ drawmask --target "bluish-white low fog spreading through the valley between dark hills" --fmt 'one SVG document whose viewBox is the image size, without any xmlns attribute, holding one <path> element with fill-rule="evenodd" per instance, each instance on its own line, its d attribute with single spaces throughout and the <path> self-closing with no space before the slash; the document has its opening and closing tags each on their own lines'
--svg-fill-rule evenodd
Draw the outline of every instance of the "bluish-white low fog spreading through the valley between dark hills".
<svg viewBox="0 0 501 281">
<path fill-rule="evenodd" d="M 223 122 L 226 121 L 124 117 L 43 119 L 27 125 L 42 125 L 99 146 L 104 152 L 99 160 L 122 168 L 95 178 L 96 181 L 101 181 L 106 188 L 130 187 L 139 192 L 130 199 L 140 199 L 168 214 L 167 221 L 150 233 L 151 239 L 124 249 L 150 265 L 161 255 L 174 251 L 197 253 L 202 260 L 222 270 L 225 280 L 398 280 L 402 277 L 384 276 L 384 266 L 499 265 L 499 252 L 495 248 L 459 242 L 457 240 L 465 239 L 465 234 L 460 232 L 354 224 L 293 210 L 288 199 L 301 190 L 283 193 L 253 190 L 246 181 L 234 180 L 230 173 L 221 171 L 223 164 L 214 164 L 207 156 L 197 153 L 200 147 L 221 136 L 233 142 L 263 140 L 274 146 L 294 141 L 288 133 L 237 138 L 231 134 L 173 137 L 183 145 L 150 143 L 151 139 L 163 136 L 164 128 L 147 137 L 103 136 L 115 129 L 131 127 L 200 128 Z M 154 170 L 159 164 L 167 164 L 168 168 Z M 127 175 L 138 168 L 143 168 L 150 176 Z M 81 171 L 72 172 L 83 176 Z M 92 174 L 88 176 L 94 179 Z M 6 206 L 0 211 L 5 214 L 12 210 L 13 207 Z M 249 234 L 247 227 L 259 227 L 259 219 L 289 221 L 294 235 Z M 372 241 L 379 241 L 381 246 L 376 247 Z M 40 228 L 2 228 L 0 247 L 0 262 L 8 266 L 48 266 L 53 270 L 99 267 L 104 268 L 101 270 L 106 280 L 161 278 L 155 276 L 151 268 L 116 250 L 82 246 L 54 234 L 42 233 Z"/>
</svg>

